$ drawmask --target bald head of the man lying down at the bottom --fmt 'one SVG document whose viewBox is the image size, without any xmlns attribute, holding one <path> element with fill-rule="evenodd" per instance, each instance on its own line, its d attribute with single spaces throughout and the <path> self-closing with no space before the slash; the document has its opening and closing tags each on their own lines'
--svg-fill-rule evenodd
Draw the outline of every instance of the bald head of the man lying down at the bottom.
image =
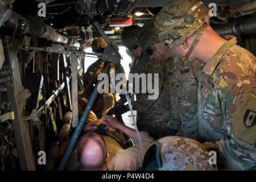
<svg viewBox="0 0 256 182">
<path fill-rule="evenodd" d="M 100 170 L 106 159 L 106 145 L 100 135 L 88 133 L 84 135 L 77 150 L 77 159 L 84 170 Z"/>
</svg>

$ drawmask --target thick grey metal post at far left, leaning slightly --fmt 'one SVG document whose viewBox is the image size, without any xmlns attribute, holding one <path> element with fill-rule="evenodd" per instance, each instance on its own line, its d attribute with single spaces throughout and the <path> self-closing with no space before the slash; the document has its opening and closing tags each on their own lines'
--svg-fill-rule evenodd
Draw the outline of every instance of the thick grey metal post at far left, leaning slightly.
<svg viewBox="0 0 256 182">
<path fill-rule="evenodd" d="M 6 47 L 10 39 L 10 37 L 5 37 Z M 27 121 L 24 121 L 22 117 L 23 105 L 20 103 L 20 100 L 22 100 L 22 96 L 20 94 L 23 92 L 23 87 L 20 81 L 18 59 L 16 52 L 12 47 L 8 47 L 6 51 L 10 61 L 10 68 L 12 70 L 11 76 L 13 78 L 12 83 L 7 84 L 7 95 L 15 114 L 13 129 L 15 143 L 18 150 L 20 168 L 24 171 L 34 171 L 35 163 L 28 130 L 28 123 Z"/>
</svg>

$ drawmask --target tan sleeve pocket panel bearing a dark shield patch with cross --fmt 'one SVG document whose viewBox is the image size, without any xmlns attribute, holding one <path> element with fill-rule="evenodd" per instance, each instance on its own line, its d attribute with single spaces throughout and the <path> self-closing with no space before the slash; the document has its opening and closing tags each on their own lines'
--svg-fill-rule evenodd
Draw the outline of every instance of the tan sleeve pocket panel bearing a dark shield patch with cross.
<svg viewBox="0 0 256 182">
<path fill-rule="evenodd" d="M 230 134 L 253 145 L 256 142 L 256 97 L 246 92 L 242 100 L 233 115 Z"/>
</svg>

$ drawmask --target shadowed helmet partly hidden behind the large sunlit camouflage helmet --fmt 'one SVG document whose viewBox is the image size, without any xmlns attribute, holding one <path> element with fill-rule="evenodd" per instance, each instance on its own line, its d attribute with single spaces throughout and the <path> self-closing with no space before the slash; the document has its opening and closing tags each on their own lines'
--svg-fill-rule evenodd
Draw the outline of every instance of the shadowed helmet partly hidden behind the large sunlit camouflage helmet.
<svg viewBox="0 0 256 182">
<path fill-rule="evenodd" d="M 143 52 L 147 52 L 148 48 L 152 48 L 154 46 L 154 43 L 160 42 L 155 34 L 154 23 L 155 19 L 148 20 L 141 28 L 138 41 L 139 47 L 141 47 Z"/>
</svg>

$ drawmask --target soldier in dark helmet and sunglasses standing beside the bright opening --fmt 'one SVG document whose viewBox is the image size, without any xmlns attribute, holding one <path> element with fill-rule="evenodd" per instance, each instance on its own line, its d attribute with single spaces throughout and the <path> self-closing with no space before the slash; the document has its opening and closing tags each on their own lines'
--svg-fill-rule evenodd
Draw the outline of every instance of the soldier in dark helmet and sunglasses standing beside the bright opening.
<svg viewBox="0 0 256 182">
<path fill-rule="evenodd" d="M 139 27 L 127 27 L 122 32 L 122 44 L 130 49 L 138 45 Z M 141 49 L 141 47 L 138 47 Z M 138 54 L 139 55 L 139 54 Z M 139 130 L 158 139 L 166 135 L 168 121 L 170 119 L 170 97 L 168 97 L 168 80 L 164 71 L 163 62 L 150 59 L 147 53 L 141 51 L 141 55 L 134 55 L 135 60 L 130 73 L 158 73 L 159 74 L 159 97 L 156 100 L 148 100 L 148 94 L 136 93 L 137 101 L 133 103 L 133 109 L 137 110 L 137 126 Z M 153 83 L 154 84 L 154 83 Z M 141 90 L 141 85 L 140 85 Z"/>
</svg>

